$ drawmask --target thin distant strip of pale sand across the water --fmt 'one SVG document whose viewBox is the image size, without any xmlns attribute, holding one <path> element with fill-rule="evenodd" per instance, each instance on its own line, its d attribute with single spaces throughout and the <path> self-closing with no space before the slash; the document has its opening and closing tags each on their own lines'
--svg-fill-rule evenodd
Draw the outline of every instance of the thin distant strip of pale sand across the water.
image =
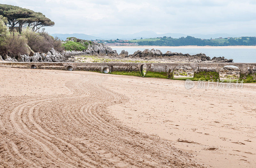
<svg viewBox="0 0 256 168">
<path fill-rule="evenodd" d="M 120 46 L 114 45 L 109 46 L 111 48 L 256 48 L 256 46 L 248 46 L 248 45 L 231 45 L 231 46 L 197 46 L 197 45 L 186 45 L 186 46 L 156 46 L 156 45 L 136 45 L 136 46 Z"/>
</svg>

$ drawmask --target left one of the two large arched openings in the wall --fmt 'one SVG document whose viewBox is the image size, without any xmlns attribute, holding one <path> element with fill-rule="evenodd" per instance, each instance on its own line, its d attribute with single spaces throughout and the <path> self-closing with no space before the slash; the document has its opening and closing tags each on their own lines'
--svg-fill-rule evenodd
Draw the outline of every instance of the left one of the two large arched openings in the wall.
<svg viewBox="0 0 256 168">
<path fill-rule="evenodd" d="M 180 65 L 173 69 L 173 78 L 174 79 L 193 79 L 194 70 L 193 68 L 187 65 Z"/>
</svg>

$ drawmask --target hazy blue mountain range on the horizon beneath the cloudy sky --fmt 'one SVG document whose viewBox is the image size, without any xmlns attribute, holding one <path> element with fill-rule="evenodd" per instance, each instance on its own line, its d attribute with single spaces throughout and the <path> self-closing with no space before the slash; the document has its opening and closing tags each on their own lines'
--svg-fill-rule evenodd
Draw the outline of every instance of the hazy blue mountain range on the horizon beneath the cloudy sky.
<svg viewBox="0 0 256 168">
<path fill-rule="evenodd" d="M 110 34 L 110 33 L 101 33 L 101 34 L 92 34 L 92 35 L 86 35 L 86 34 L 52 34 L 53 37 L 57 36 L 60 39 L 66 40 L 67 37 L 76 37 L 83 40 L 109 40 L 109 39 L 123 39 L 123 40 L 132 40 L 132 39 L 140 39 L 141 37 L 144 38 L 154 38 L 154 37 L 172 37 L 172 38 L 180 38 L 180 37 L 186 37 L 186 36 L 193 36 L 196 38 L 201 39 L 210 39 L 210 38 L 226 38 L 226 37 L 241 37 L 241 36 L 255 36 L 249 35 L 246 33 L 240 33 L 240 34 L 226 34 L 226 33 L 217 33 L 217 34 L 181 34 L 181 33 L 164 33 L 164 34 L 157 34 L 154 31 L 141 31 L 134 34 Z"/>
</svg>

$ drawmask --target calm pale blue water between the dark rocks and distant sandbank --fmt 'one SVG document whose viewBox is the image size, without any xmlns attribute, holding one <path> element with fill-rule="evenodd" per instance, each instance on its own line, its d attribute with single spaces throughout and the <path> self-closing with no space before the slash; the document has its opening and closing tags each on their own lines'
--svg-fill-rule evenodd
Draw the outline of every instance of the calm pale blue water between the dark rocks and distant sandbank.
<svg viewBox="0 0 256 168">
<path fill-rule="evenodd" d="M 113 50 L 116 50 L 117 53 L 120 53 L 122 50 L 128 51 L 129 54 L 133 54 L 137 50 L 145 50 L 152 48 L 115 48 L 111 47 Z M 208 57 L 225 57 L 227 59 L 233 59 L 234 62 L 248 62 L 256 63 L 256 48 L 155 48 L 165 53 L 167 51 L 171 52 L 181 52 L 183 54 L 198 54 L 205 53 Z"/>
</svg>

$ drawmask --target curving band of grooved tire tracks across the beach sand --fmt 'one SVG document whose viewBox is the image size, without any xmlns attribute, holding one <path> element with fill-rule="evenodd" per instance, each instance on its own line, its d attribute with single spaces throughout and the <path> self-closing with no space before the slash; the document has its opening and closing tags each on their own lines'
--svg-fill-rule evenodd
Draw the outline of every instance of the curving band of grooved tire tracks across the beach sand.
<svg viewBox="0 0 256 168">
<path fill-rule="evenodd" d="M 72 74 L 86 73 L 68 75 Z M 108 115 L 107 106 L 128 100 L 102 87 L 100 83 L 106 77 L 81 75 L 65 84 L 73 94 L 41 97 L 9 112 L 13 131 L 26 143 L 27 151 L 36 153 L 24 154 L 20 145 L 15 147 L 24 158 L 23 165 L 200 167 L 190 155 L 172 147 L 170 141 L 132 130 Z"/>
</svg>

